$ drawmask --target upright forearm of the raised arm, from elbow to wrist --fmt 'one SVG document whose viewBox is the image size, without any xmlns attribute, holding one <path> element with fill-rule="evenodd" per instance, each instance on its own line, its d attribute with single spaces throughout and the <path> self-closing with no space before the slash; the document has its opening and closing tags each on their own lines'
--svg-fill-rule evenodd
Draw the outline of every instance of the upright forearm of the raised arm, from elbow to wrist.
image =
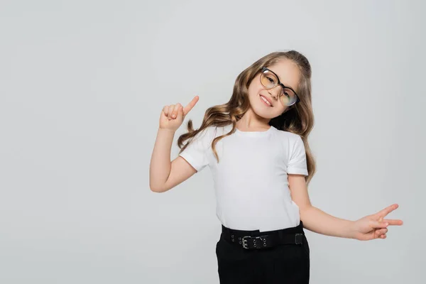
<svg viewBox="0 0 426 284">
<path fill-rule="evenodd" d="M 174 136 L 175 131 L 158 129 L 149 168 L 149 185 L 153 191 L 160 191 L 170 175 L 170 152 Z"/>
</svg>

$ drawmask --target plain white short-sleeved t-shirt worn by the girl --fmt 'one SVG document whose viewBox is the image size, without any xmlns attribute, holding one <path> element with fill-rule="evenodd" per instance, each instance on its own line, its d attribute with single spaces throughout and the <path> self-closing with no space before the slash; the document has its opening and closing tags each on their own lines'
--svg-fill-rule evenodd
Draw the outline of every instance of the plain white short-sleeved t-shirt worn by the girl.
<svg viewBox="0 0 426 284">
<path fill-rule="evenodd" d="M 216 144 L 212 140 L 232 125 L 209 126 L 197 133 L 180 156 L 198 172 L 209 166 L 216 195 L 216 215 L 231 229 L 271 231 L 300 224 L 291 200 L 288 173 L 307 175 L 305 146 L 295 133 L 271 126 L 267 131 L 239 131 Z"/>
</svg>

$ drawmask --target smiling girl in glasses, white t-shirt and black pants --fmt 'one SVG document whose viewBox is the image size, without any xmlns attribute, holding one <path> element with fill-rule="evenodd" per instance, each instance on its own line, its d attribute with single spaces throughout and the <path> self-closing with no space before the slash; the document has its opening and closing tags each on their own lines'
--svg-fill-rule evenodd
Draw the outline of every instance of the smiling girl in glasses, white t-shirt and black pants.
<svg viewBox="0 0 426 284">
<path fill-rule="evenodd" d="M 310 78 L 310 63 L 295 50 L 257 60 L 236 78 L 229 102 L 207 109 L 200 129 L 188 121 L 172 162 L 175 131 L 199 98 L 161 111 L 151 190 L 170 190 L 209 165 L 222 223 L 216 246 L 222 284 L 309 283 L 304 228 L 365 241 L 386 239 L 388 225 L 403 224 L 383 219 L 398 204 L 349 221 L 310 203 L 307 185 L 315 173 L 307 141 L 314 121 Z"/>
</svg>

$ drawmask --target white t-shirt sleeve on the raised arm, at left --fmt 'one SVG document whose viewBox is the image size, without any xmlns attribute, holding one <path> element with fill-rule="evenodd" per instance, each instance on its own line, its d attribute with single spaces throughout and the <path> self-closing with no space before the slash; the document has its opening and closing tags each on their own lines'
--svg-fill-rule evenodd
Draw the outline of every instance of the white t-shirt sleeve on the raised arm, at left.
<svg viewBox="0 0 426 284">
<path fill-rule="evenodd" d="M 190 139 L 188 146 L 179 155 L 187 160 L 197 172 L 209 165 L 209 149 L 212 148 L 212 126 L 203 129 Z"/>
</svg>

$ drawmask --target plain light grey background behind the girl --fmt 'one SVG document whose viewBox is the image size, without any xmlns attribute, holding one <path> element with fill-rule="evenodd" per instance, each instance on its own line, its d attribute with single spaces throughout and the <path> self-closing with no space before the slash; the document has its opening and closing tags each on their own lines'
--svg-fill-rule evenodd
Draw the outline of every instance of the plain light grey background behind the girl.
<svg viewBox="0 0 426 284">
<path fill-rule="evenodd" d="M 313 70 L 312 204 L 356 220 L 398 203 L 388 217 L 405 222 L 366 242 L 306 231 L 311 282 L 418 283 L 424 11 L 402 0 L 1 1 L 0 283 L 218 283 L 209 168 L 149 189 L 160 111 L 197 94 L 187 119 L 198 127 L 239 72 L 288 49 Z"/>
</svg>

